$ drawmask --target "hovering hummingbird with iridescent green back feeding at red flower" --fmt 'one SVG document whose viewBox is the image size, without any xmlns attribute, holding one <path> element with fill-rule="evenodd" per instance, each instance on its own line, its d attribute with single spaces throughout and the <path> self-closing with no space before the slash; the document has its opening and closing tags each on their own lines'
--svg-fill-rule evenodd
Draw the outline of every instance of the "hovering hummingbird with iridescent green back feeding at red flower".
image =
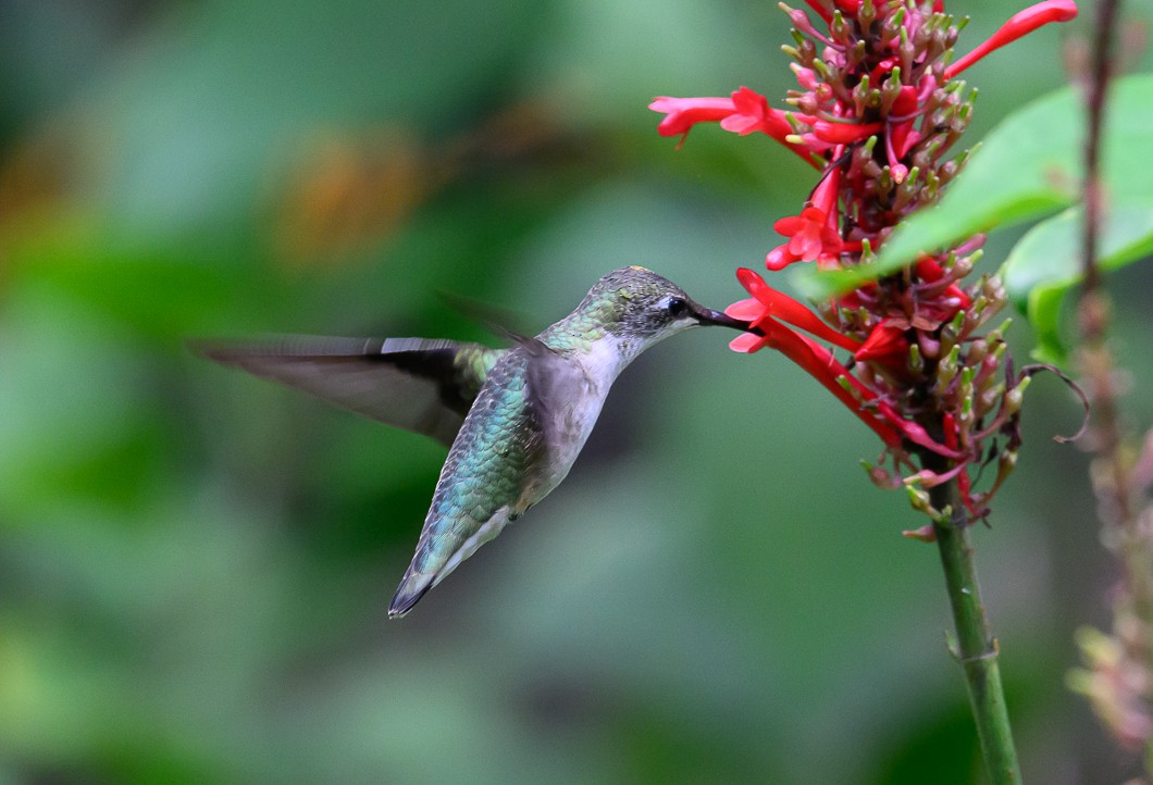
<svg viewBox="0 0 1153 785">
<path fill-rule="evenodd" d="M 510 348 L 309 335 L 198 348 L 449 446 L 416 552 L 389 606 L 389 618 L 399 618 L 565 478 L 633 360 L 699 325 L 749 330 L 655 272 L 628 266 L 601 278 L 572 314 L 535 338 L 513 335 Z"/>
</svg>

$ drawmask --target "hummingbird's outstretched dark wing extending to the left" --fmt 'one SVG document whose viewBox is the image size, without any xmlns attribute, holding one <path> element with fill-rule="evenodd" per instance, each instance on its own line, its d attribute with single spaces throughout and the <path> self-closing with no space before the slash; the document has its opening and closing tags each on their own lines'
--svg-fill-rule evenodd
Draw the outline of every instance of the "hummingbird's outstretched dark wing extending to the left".
<svg viewBox="0 0 1153 785">
<path fill-rule="evenodd" d="M 374 420 L 451 445 L 507 349 L 422 338 L 284 335 L 194 347 Z"/>
</svg>

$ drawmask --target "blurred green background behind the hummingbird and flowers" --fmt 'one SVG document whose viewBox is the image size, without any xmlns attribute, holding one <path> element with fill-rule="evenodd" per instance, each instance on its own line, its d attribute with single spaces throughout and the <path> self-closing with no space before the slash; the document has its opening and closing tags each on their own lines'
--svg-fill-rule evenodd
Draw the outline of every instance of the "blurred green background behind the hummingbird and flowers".
<svg viewBox="0 0 1153 785">
<path fill-rule="evenodd" d="M 967 50 L 1016 6 L 950 9 Z M 646 355 L 570 480 L 386 622 L 444 450 L 184 348 L 490 340 L 437 293 L 536 329 L 632 263 L 744 296 L 733 269 L 812 172 L 715 128 L 678 152 L 646 105 L 783 95 L 785 22 L 741 0 L 0 3 L 0 783 L 981 782 L 936 552 L 898 534 L 922 521 L 782 357 L 706 330 Z M 967 74 L 974 139 L 1064 81 L 1077 30 Z M 1147 390 L 1153 280 L 1118 282 Z M 1026 778 L 1118 782 L 1132 762 L 1063 687 L 1113 580 L 1085 458 L 1049 439 L 1079 407 L 1030 397 L 975 531 Z"/>
</svg>

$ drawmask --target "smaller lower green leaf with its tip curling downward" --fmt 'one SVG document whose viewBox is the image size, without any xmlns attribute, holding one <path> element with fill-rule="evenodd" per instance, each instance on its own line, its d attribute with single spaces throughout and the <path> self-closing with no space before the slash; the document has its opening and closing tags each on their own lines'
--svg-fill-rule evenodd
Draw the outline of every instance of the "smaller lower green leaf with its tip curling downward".
<svg viewBox="0 0 1153 785">
<path fill-rule="evenodd" d="M 1061 337 L 1065 294 L 1082 280 L 1082 234 L 1085 212 L 1072 207 L 1038 224 L 1020 239 L 1001 270 L 1005 290 L 1033 324 L 1033 355 L 1063 364 Z M 1101 224 L 1098 264 L 1115 270 L 1153 252 L 1153 199 L 1133 198 L 1111 205 Z"/>
</svg>

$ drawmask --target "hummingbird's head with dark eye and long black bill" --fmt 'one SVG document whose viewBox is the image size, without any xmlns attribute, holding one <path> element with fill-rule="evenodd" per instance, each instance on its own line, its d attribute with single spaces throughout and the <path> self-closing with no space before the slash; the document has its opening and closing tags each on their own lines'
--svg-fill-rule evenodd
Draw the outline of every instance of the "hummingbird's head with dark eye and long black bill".
<svg viewBox="0 0 1153 785">
<path fill-rule="evenodd" d="M 578 308 L 597 311 L 604 327 L 636 349 L 700 325 L 748 330 L 747 322 L 694 302 L 685 290 L 640 266 L 613 270 L 596 282 Z"/>
</svg>

